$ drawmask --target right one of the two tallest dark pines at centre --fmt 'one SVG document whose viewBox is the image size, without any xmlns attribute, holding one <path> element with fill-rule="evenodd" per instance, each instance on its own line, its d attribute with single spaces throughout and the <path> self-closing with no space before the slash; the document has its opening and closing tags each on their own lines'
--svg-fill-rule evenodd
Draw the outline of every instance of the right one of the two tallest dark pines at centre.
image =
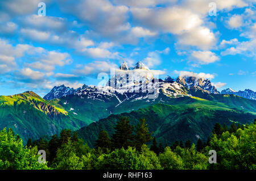
<svg viewBox="0 0 256 181">
<path fill-rule="evenodd" d="M 136 135 L 135 135 L 135 146 L 137 150 L 141 150 L 141 146 L 152 140 L 151 134 L 148 131 L 146 124 L 146 119 L 140 119 L 139 124 L 136 126 Z"/>
</svg>

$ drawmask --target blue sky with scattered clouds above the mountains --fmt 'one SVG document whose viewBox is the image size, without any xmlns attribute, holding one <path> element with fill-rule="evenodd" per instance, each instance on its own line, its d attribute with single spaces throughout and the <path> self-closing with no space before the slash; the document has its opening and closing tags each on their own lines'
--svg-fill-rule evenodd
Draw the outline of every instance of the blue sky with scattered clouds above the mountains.
<svg viewBox="0 0 256 181">
<path fill-rule="evenodd" d="M 38 3 L 46 4 L 39 16 Z M 210 16 L 216 5 L 216 16 Z M 98 73 L 142 61 L 167 75 L 256 91 L 254 0 L 3 0 L 0 95 L 97 85 Z"/>
</svg>

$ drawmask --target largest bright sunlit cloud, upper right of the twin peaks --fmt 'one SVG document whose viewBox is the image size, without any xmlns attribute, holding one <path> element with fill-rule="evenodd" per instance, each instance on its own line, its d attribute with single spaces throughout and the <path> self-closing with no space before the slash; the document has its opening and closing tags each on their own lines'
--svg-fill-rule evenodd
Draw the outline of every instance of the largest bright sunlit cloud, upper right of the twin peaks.
<svg viewBox="0 0 256 181">
<path fill-rule="evenodd" d="M 178 44 L 210 48 L 216 37 L 209 28 L 202 26 L 203 17 L 184 7 L 132 8 L 135 20 L 153 31 L 174 33 Z"/>
</svg>

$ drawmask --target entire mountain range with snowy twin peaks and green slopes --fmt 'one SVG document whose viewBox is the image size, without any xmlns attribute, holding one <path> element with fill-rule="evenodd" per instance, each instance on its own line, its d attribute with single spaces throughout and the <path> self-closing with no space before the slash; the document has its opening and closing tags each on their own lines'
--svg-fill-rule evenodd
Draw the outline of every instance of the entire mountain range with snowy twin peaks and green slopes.
<svg viewBox="0 0 256 181">
<path fill-rule="evenodd" d="M 129 73 L 133 71 L 144 79 L 131 79 Z M 55 86 L 44 98 L 32 91 L 0 96 L 0 129 L 12 128 L 26 142 L 28 138 L 52 136 L 68 128 L 78 131 L 93 146 L 101 129 L 109 135 L 113 133 L 119 116 L 129 117 L 133 124 L 145 117 L 154 136 L 163 144 L 170 144 L 187 138 L 205 140 L 216 122 L 245 124 L 256 117 L 253 91 L 238 93 L 230 89 L 220 94 L 209 79 L 153 79 L 140 74 L 145 71 L 151 70 L 142 62 L 133 68 L 123 63 L 117 73 L 125 74 L 127 79 L 112 77 L 104 87 Z M 132 81 L 127 83 L 129 78 Z M 153 92 L 147 89 L 149 82 Z"/>
</svg>

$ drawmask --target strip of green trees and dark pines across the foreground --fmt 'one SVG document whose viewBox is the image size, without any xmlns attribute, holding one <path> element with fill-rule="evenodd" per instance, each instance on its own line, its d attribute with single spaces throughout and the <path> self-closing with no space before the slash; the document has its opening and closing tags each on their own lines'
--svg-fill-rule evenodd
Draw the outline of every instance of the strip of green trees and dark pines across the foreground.
<svg viewBox="0 0 256 181">
<path fill-rule="evenodd" d="M 207 142 L 200 138 L 172 145 L 158 144 L 148 130 L 146 119 L 135 127 L 127 117 L 119 117 L 109 137 L 100 132 L 94 148 L 76 132 L 64 129 L 51 140 L 28 140 L 9 129 L 0 132 L 0 169 L 256 169 L 256 120 L 254 123 L 214 124 Z M 149 143 L 151 143 L 150 146 Z M 165 147 L 165 148 L 164 148 Z M 46 163 L 39 163 L 38 150 L 46 150 Z M 208 162 L 209 150 L 216 150 L 217 163 Z"/>
</svg>

